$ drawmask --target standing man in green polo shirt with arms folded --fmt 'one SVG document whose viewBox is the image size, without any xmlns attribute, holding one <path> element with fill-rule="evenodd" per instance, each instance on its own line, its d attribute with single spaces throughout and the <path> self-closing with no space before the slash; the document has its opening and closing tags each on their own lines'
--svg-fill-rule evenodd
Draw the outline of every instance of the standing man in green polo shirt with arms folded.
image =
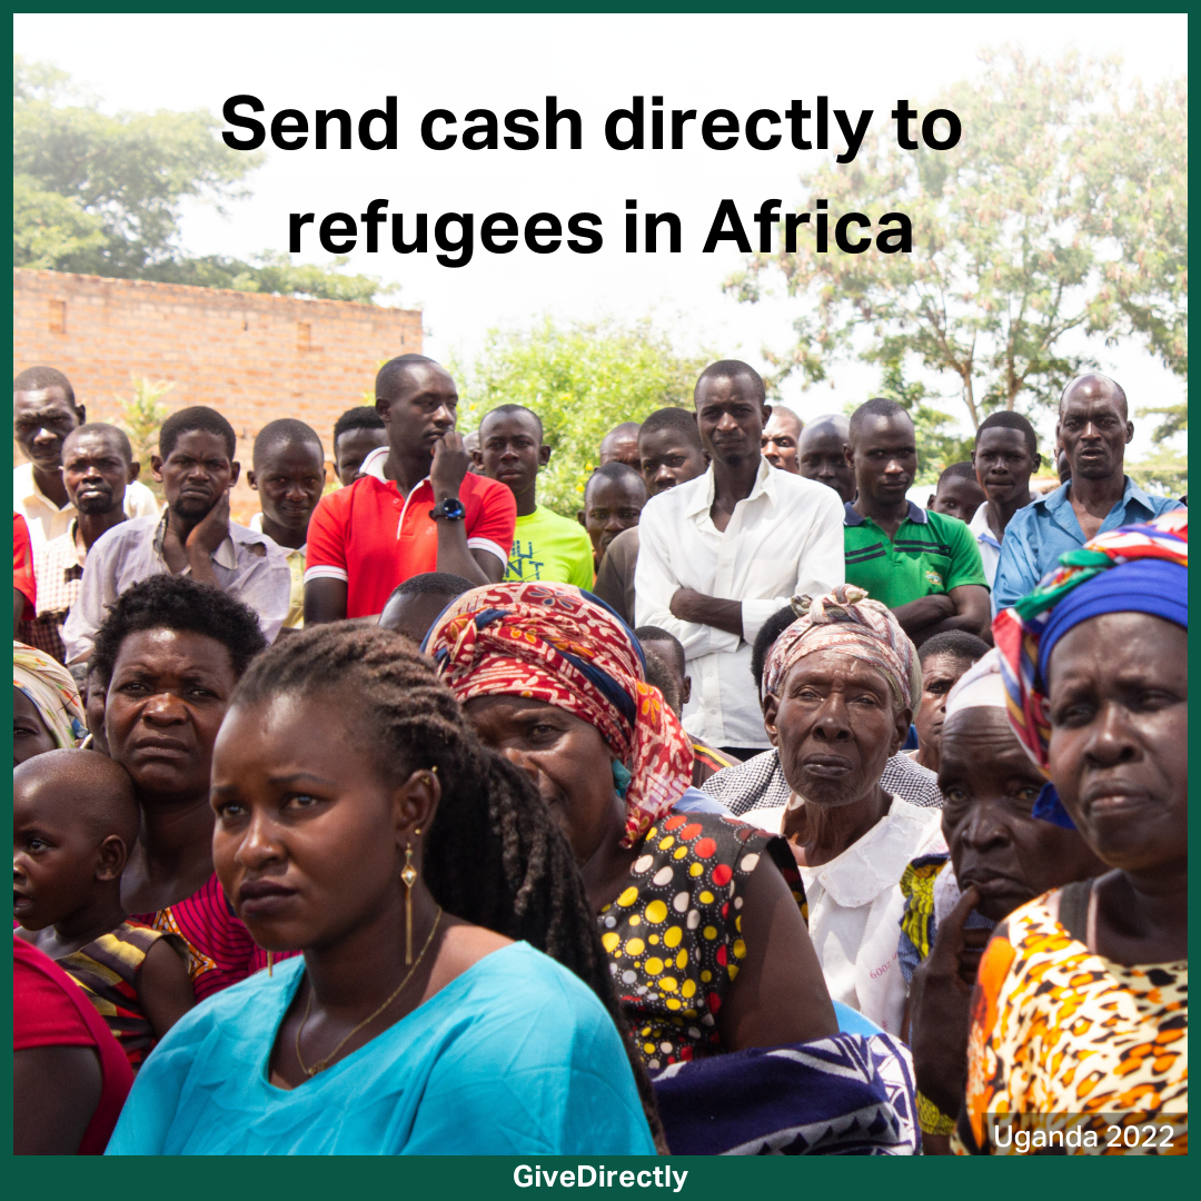
<svg viewBox="0 0 1201 1201">
<path fill-rule="evenodd" d="M 975 537 L 906 500 L 918 473 L 909 414 L 895 400 L 860 405 L 847 459 L 859 486 L 846 509 L 847 582 L 886 604 L 919 646 L 948 629 L 985 637 L 988 585 Z"/>
</svg>

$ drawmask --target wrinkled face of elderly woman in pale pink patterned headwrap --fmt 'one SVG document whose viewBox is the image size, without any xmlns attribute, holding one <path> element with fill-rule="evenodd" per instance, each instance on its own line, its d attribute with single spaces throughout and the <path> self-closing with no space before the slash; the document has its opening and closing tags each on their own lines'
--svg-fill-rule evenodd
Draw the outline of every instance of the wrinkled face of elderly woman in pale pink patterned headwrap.
<svg viewBox="0 0 1201 1201">
<path fill-rule="evenodd" d="M 880 671 L 836 650 L 795 663 L 766 718 L 788 787 L 831 808 L 871 795 L 909 721 Z"/>
</svg>

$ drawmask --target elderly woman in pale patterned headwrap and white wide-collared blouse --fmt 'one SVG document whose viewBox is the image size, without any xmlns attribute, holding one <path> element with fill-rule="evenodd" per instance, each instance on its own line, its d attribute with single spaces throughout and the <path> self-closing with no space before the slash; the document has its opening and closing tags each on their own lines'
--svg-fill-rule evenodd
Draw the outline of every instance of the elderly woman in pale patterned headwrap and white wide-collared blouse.
<svg viewBox="0 0 1201 1201">
<path fill-rule="evenodd" d="M 764 724 L 793 790 L 783 832 L 801 865 L 830 996 L 897 1034 L 901 876 L 915 856 L 945 849 L 938 809 L 880 784 L 921 693 L 918 652 L 892 614 L 854 585 L 794 605 L 800 616 L 764 671 Z"/>
</svg>

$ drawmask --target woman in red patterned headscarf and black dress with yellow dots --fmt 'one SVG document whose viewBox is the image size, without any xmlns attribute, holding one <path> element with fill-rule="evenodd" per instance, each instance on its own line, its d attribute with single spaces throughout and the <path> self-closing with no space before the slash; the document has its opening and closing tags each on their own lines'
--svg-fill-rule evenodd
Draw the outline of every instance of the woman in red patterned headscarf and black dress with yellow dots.
<svg viewBox="0 0 1201 1201">
<path fill-rule="evenodd" d="M 681 1069 L 712 1057 L 837 1032 L 803 898 L 785 878 L 795 882 L 787 846 L 733 818 L 671 812 L 692 778 L 688 737 L 645 682 L 637 638 L 588 593 L 474 588 L 442 614 L 424 650 L 483 741 L 528 775 L 567 835 L 639 1053 L 667 1082 L 657 1087 L 673 1151 L 759 1146 L 765 1128 L 735 1129 L 728 1088 L 710 1092 L 719 1111 L 705 1118 L 677 1105 L 675 1091 L 697 1078 Z M 874 1070 L 864 1068 L 865 1093 L 880 1087 Z M 817 1076 L 796 1092 L 813 1105 L 820 1094 L 829 1117 Z M 773 1149 L 795 1141 L 795 1128 L 769 1129 L 779 1135 Z"/>
</svg>

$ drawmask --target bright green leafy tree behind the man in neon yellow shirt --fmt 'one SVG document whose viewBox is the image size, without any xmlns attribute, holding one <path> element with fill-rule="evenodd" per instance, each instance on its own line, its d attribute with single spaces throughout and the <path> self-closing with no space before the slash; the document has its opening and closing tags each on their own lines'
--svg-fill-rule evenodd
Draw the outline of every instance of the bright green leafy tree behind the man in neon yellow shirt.
<svg viewBox="0 0 1201 1201">
<path fill-rule="evenodd" d="M 489 330 L 472 362 L 448 366 L 459 386 L 461 430 L 477 429 L 504 404 L 525 405 L 542 418 L 551 456 L 538 500 L 574 518 L 604 435 L 656 408 L 691 408 L 697 376 L 713 358 L 677 354 L 650 319 L 560 329 L 548 317 L 527 331 Z"/>
</svg>

